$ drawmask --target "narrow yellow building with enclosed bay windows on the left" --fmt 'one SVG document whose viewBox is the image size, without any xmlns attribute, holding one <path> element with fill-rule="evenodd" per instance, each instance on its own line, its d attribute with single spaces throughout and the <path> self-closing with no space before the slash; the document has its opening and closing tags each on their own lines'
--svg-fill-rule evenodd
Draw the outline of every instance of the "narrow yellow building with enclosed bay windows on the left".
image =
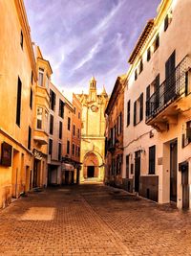
<svg viewBox="0 0 191 256">
<path fill-rule="evenodd" d="M 32 187 L 45 187 L 48 182 L 49 87 L 53 71 L 50 62 L 43 58 L 40 48 L 33 45 L 33 50 L 38 80 L 34 93 Z"/>
</svg>

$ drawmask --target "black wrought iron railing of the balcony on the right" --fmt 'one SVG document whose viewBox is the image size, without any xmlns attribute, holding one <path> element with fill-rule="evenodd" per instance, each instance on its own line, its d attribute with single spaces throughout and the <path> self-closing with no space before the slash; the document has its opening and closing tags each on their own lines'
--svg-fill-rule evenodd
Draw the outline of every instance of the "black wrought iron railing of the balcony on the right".
<svg viewBox="0 0 191 256">
<path fill-rule="evenodd" d="M 188 93 L 188 70 L 190 58 L 183 58 L 174 72 L 163 81 L 159 88 L 146 101 L 146 122 L 153 119 L 161 110 Z"/>
</svg>

